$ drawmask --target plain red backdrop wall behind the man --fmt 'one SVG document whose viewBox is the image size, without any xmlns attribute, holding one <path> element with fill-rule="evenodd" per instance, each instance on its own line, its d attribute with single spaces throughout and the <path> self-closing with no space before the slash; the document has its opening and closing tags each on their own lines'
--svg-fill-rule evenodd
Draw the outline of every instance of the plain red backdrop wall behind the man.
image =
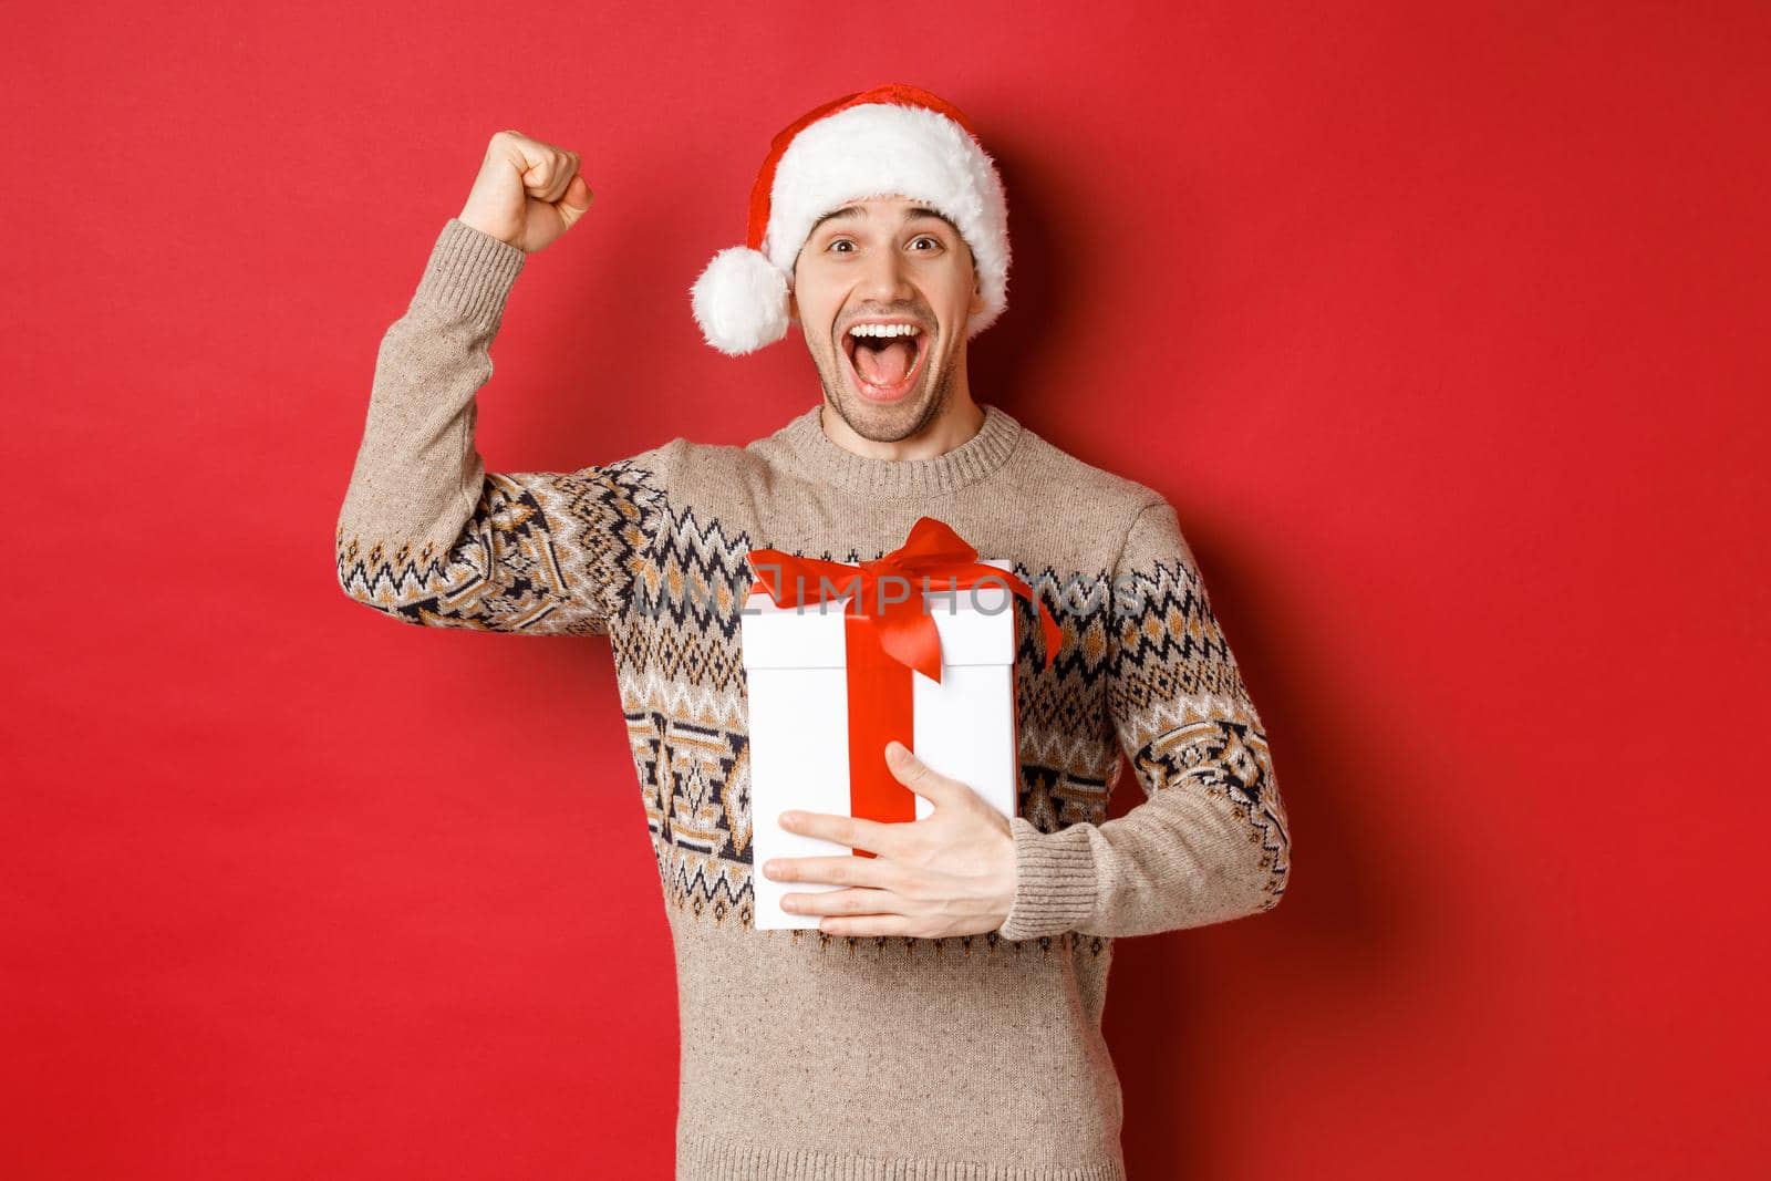
<svg viewBox="0 0 1771 1181">
<path fill-rule="evenodd" d="M 687 289 L 889 80 L 1008 181 L 978 397 L 1176 503 L 1291 813 L 1119 947 L 1132 1176 L 1762 1165 L 1766 7 L 1041 7 L 9 16 L 5 1176 L 669 1176 L 607 641 L 393 625 L 333 524 L 491 133 L 597 191 L 480 416 L 576 467 L 813 404 Z"/>
</svg>

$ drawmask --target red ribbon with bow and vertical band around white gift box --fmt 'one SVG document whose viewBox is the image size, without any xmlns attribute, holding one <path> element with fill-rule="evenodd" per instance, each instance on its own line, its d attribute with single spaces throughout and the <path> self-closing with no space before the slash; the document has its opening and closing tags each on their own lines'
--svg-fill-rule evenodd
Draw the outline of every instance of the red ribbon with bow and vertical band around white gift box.
<svg viewBox="0 0 1771 1181">
<path fill-rule="evenodd" d="M 1043 668 L 1050 668 L 1063 639 L 1057 620 L 1025 581 L 978 561 L 978 551 L 935 517 L 917 517 L 903 545 L 859 565 L 800 558 L 779 549 L 753 549 L 749 560 L 753 568 L 767 568 L 751 593 L 765 591 L 777 607 L 848 595 L 843 645 L 850 816 L 884 823 L 916 820 L 916 793 L 891 774 L 884 751 L 893 738 L 912 745 L 912 671 L 940 680 L 940 630 L 928 613 L 926 593 L 995 584 L 1027 598 L 1040 609 Z M 887 590 L 905 597 L 887 598 Z M 873 855 L 859 848 L 852 852 L 857 857 Z"/>
</svg>

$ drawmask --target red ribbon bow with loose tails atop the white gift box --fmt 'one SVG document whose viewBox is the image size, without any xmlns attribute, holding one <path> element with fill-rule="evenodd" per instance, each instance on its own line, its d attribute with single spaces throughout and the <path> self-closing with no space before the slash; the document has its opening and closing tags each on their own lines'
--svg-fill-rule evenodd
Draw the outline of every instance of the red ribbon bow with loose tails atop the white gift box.
<svg viewBox="0 0 1771 1181">
<path fill-rule="evenodd" d="M 753 549 L 749 558 L 753 568 L 769 568 L 769 574 L 751 586 L 753 593 L 767 591 L 777 607 L 799 607 L 850 595 L 843 614 L 868 618 L 880 648 L 891 659 L 935 682 L 940 680 L 940 632 L 924 606 L 926 591 L 1006 584 L 1009 591 L 1040 609 L 1045 668 L 1052 666 L 1063 637 L 1045 600 L 1034 595 L 1027 583 L 1008 570 L 978 561 L 978 551 L 935 517 L 917 517 L 903 545 L 859 565 L 799 558 L 779 549 Z M 893 581 L 882 586 L 887 575 Z M 887 600 L 884 593 L 887 586 L 894 593 L 907 591 L 907 597 Z"/>
</svg>

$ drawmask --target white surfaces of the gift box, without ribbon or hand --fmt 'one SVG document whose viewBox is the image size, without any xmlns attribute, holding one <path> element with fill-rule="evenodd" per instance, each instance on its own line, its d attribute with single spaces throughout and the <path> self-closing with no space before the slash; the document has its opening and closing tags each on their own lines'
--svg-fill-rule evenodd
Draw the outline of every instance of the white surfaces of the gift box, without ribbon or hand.
<svg viewBox="0 0 1771 1181">
<path fill-rule="evenodd" d="M 1011 570 L 1008 560 L 983 565 Z M 855 855 L 848 845 L 786 832 L 779 823 L 790 809 L 852 814 L 847 602 L 845 595 L 779 607 L 758 590 L 739 616 L 749 683 L 751 884 L 760 930 L 816 928 L 820 915 L 788 914 L 781 896 L 847 889 L 836 882 L 777 882 L 762 871 L 770 857 Z M 940 636 L 940 680 L 900 666 L 912 682 L 914 710 L 914 731 L 901 740 L 932 770 L 969 784 L 1013 816 L 1020 760 L 1011 591 L 995 583 L 958 591 L 932 588 L 924 604 Z M 878 758 L 884 763 L 884 749 Z M 933 811 L 921 795 L 914 799 L 917 820 Z"/>
</svg>

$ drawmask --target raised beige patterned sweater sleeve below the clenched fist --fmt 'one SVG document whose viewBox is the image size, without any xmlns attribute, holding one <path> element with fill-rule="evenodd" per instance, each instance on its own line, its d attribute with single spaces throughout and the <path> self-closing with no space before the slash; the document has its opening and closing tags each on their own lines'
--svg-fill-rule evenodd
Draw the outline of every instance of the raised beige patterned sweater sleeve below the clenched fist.
<svg viewBox="0 0 1771 1181">
<path fill-rule="evenodd" d="M 609 634 L 662 521 L 671 444 L 568 473 L 487 473 L 475 395 L 526 255 L 450 218 L 381 340 L 338 510 L 338 584 L 402 623 Z"/>
</svg>

